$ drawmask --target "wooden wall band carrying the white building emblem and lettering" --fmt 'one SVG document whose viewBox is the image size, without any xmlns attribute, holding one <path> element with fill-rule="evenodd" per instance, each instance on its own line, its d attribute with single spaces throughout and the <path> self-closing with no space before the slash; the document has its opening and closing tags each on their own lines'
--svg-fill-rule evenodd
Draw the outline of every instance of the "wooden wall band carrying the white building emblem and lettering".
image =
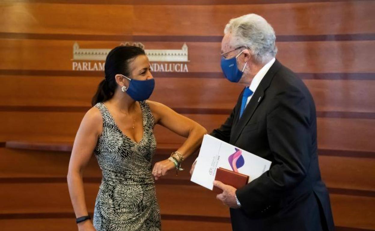
<svg viewBox="0 0 375 231">
<path fill-rule="evenodd" d="M 0 39 L 0 69 L 72 70 L 74 42 Z M 79 44 L 81 48 L 110 49 L 121 42 L 124 41 L 80 41 Z M 142 43 L 145 49 L 181 49 L 183 45 L 183 42 Z M 219 42 L 186 44 L 189 48 L 189 72 L 221 72 Z M 294 72 L 375 72 L 374 65 L 371 65 L 375 63 L 372 55 L 375 52 L 375 41 L 279 42 L 277 46 L 279 52 L 276 57 Z"/>
</svg>

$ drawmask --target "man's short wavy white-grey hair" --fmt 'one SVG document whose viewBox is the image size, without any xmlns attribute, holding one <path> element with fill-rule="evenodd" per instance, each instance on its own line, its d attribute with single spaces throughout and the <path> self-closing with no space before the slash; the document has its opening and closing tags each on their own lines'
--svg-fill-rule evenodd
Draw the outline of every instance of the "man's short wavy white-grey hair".
<svg viewBox="0 0 375 231">
<path fill-rule="evenodd" d="M 255 60 L 264 64 L 276 56 L 276 35 L 263 17 L 254 13 L 233 18 L 226 24 L 224 34 L 231 34 L 230 45 L 246 46 Z"/>
</svg>

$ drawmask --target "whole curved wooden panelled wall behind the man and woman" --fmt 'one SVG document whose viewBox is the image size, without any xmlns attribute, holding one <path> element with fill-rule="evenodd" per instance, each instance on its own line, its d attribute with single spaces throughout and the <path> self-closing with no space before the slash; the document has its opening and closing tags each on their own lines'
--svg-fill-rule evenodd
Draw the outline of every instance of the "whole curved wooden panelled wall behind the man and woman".
<svg viewBox="0 0 375 231">
<path fill-rule="evenodd" d="M 73 142 L 103 78 L 102 72 L 72 71 L 76 41 L 81 48 L 106 49 L 127 41 L 142 42 L 145 49 L 180 49 L 186 42 L 189 73 L 154 73 L 151 99 L 211 131 L 225 121 L 242 88 L 222 77 L 223 29 L 229 19 L 254 12 L 275 28 L 277 58 L 300 73 L 314 97 L 320 169 L 337 230 L 374 230 L 375 1 L 166 2 L 0 3 L 0 140 Z M 155 135 L 159 151 L 154 162 L 184 140 L 160 126 Z M 0 147 L 3 229 L 15 230 L 15 222 L 18 230 L 76 229 L 66 184 L 69 157 L 69 151 Z M 186 171 L 179 176 L 171 171 L 156 182 L 163 230 L 229 230 L 228 209 L 189 181 L 194 159 L 184 162 Z M 93 212 L 101 179 L 95 156 L 84 176 Z M 171 203 L 181 197 L 184 203 Z M 18 219 L 1 219 L 10 216 Z"/>
</svg>

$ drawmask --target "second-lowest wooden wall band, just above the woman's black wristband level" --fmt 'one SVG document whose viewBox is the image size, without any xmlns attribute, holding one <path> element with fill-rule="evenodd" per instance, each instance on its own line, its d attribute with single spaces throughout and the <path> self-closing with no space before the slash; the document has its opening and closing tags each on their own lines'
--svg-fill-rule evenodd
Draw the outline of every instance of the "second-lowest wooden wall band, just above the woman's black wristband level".
<svg viewBox="0 0 375 231">
<path fill-rule="evenodd" d="M 65 183 L 2 184 L 1 214 L 72 212 Z M 89 211 L 93 211 L 97 184 L 85 184 Z M 229 211 L 215 195 L 200 186 L 157 185 L 157 196 L 162 214 L 228 217 Z M 25 192 L 27 192 L 25 194 Z M 45 193 L 41 193 L 45 192 Z M 184 203 L 171 203 L 184 198 Z M 344 227 L 374 228 L 375 198 L 331 194 L 335 224 Z M 43 201 L 43 203 L 40 203 Z M 348 218 L 351 219 L 348 219 Z"/>
</svg>

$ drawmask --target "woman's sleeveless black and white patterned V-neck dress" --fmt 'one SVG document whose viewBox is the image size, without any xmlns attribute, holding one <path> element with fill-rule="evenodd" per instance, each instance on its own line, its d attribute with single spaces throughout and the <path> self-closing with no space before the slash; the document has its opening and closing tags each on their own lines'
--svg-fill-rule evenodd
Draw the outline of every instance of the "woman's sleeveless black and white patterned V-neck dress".
<svg viewBox="0 0 375 231">
<path fill-rule="evenodd" d="M 139 104 L 143 119 L 139 143 L 123 134 L 103 103 L 95 105 L 103 116 L 103 133 L 95 148 L 103 174 L 93 218 L 97 231 L 160 230 L 160 209 L 151 175 L 156 150 L 154 118 L 145 101 Z"/>
</svg>

